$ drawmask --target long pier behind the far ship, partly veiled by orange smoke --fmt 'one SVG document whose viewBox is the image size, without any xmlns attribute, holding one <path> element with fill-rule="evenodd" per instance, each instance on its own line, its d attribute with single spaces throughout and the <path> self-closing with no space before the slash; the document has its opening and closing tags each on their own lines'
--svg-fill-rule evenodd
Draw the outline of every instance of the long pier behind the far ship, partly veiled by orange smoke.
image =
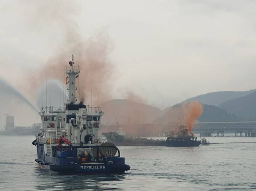
<svg viewBox="0 0 256 191">
<path fill-rule="evenodd" d="M 102 125 L 106 132 L 114 132 L 119 128 L 126 129 L 131 136 L 168 136 L 177 123 L 168 124 L 105 124 Z M 128 129 L 128 130 L 127 130 Z M 146 131 L 150 129 L 149 131 Z M 197 122 L 193 133 L 201 137 L 224 137 L 225 134 L 233 134 L 237 137 L 256 137 L 256 121 L 249 122 Z"/>
</svg>

